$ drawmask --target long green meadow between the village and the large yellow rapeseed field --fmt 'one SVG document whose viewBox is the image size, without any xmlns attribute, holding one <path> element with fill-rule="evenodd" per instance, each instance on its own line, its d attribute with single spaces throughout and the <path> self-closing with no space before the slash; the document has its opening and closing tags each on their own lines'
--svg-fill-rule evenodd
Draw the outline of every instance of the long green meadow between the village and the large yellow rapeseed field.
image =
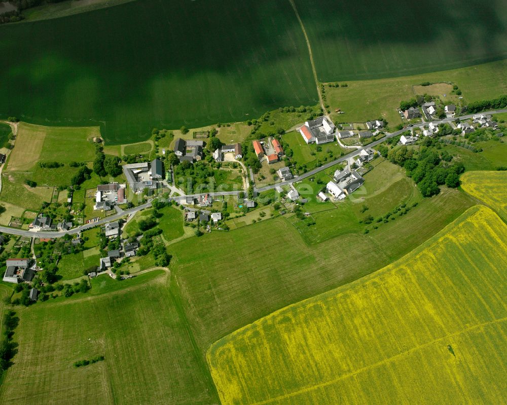
<svg viewBox="0 0 507 405">
<path fill-rule="evenodd" d="M 388 265 L 472 205 L 464 193 L 443 190 L 368 235 L 361 228 L 312 245 L 289 220 L 277 216 L 171 244 L 171 269 L 189 322 L 198 325 L 196 340 L 207 348 L 277 309 Z M 331 217 L 328 222 L 335 230 L 347 226 Z"/>
</svg>

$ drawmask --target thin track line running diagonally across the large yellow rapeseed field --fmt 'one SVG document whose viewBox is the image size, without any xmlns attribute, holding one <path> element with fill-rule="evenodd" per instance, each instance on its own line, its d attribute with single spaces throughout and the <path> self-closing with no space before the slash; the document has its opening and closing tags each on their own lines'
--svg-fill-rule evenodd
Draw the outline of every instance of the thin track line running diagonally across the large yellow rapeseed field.
<svg viewBox="0 0 507 405">
<path fill-rule="evenodd" d="M 361 367 L 358 370 L 355 370 L 352 373 L 344 374 L 344 375 L 342 375 L 342 376 L 340 376 L 338 378 L 335 378 L 334 380 L 326 381 L 326 382 L 323 382 L 323 383 L 320 383 L 320 384 L 313 385 L 311 387 L 303 388 L 303 389 L 300 389 L 299 391 L 289 392 L 288 394 L 285 394 L 285 395 L 279 395 L 277 397 L 270 398 L 270 399 L 267 399 L 265 401 L 252 402 L 251 405 L 264 405 L 264 404 L 268 404 L 268 403 L 271 403 L 271 402 L 278 401 L 278 400 L 283 399 L 283 398 L 291 398 L 291 397 L 297 396 L 297 395 L 305 393 L 305 392 L 313 391 L 313 390 L 315 390 L 317 388 L 327 387 L 328 385 L 332 385 L 332 384 L 334 384 L 334 383 L 336 383 L 338 381 L 344 380 L 346 378 L 354 377 L 357 374 L 362 373 L 364 371 L 368 371 L 368 370 L 374 369 L 374 368 L 376 368 L 378 366 L 381 366 L 381 365 L 389 364 L 389 363 L 391 363 L 394 360 L 397 360 L 399 358 L 402 358 L 402 357 L 405 357 L 407 355 L 410 355 L 410 354 L 412 354 L 414 352 L 417 352 L 420 349 L 424 349 L 426 347 L 434 345 L 435 343 L 438 343 L 438 342 L 443 341 L 445 339 L 454 338 L 456 336 L 459 336 L 459 335 L 462 335 L 464 333 L 470 332 L 470 331 L 472 331 L 474 329 L 483 328 L 483 327 L 486 327 L 486 326 L 490 326 L 490 325 L 493 325 L 493 324 L 496 324 L 496 323 L 505 322 L 505 321 L 507 321 L 507 317 L 503 317 L 503 318 L 499 318 L 499 319 L 493 319 L 491 321 L 478 323 L 477 325 L 468 326 L 468 327 L 460 330 L 459 332 L 456 332 L 456 333 L 453 333 L 453 334 L 450 334 L 450 335 L 445 335 L 445 336 L 442 336 L 441 338 L 434 339 L 434 340 L 432 340 L 430 342 L 423 343 L 422 345 L 413 347 L 413 348 L 411 348 L 409 350 L 405 350 L 404 352 L 396 354 L 395 356 L 389 357 L 389 358 L 384 359 L 382 361 L 378 361 L 375 364 L 367 365 L 365 367 Z"/>
</svg>

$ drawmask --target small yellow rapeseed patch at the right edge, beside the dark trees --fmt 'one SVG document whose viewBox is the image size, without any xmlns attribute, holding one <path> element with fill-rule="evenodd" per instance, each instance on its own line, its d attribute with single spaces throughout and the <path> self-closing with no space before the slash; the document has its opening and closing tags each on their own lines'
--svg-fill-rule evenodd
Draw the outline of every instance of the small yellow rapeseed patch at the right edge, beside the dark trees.
<svg viewBox="0 0 507 405">
<path fill-rule="evenodd" d="M 461 176 L 461 188 L 507 220 L 507 171 L 467 171 Z"/>
</svg>

